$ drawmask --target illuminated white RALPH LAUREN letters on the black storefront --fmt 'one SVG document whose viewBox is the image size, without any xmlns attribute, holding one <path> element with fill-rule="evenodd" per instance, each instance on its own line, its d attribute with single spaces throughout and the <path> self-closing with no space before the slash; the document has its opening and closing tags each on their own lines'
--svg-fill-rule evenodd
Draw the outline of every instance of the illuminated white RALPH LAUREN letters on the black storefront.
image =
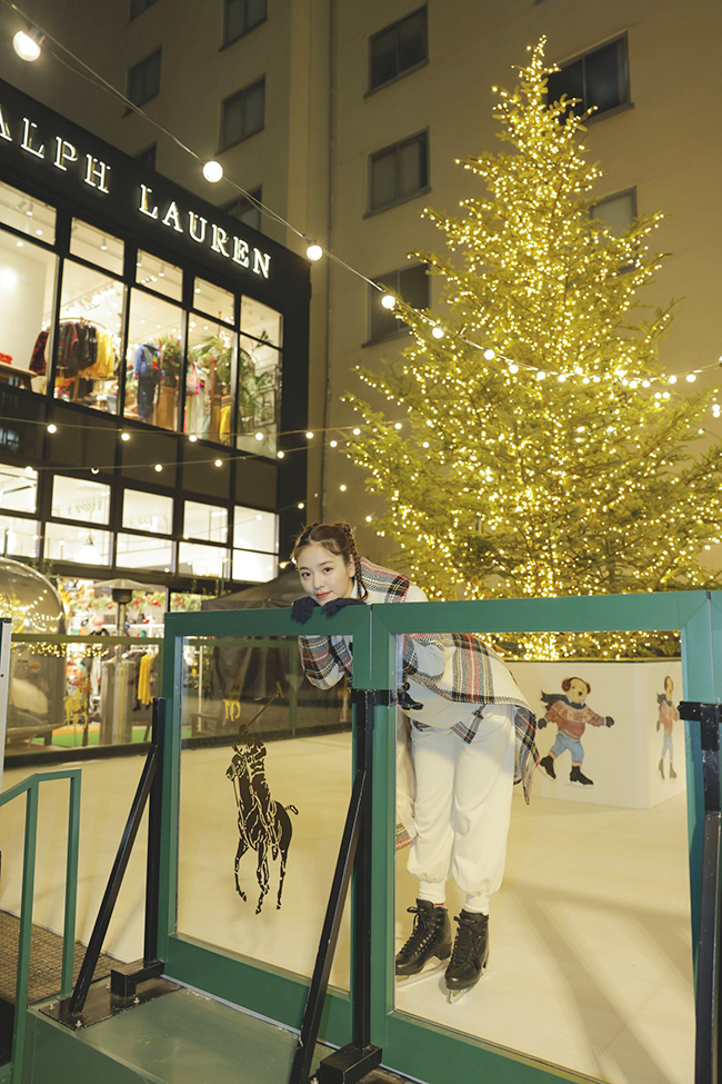
<svg viewBox="0 0 722 1084">
<path fill-rule="evenodd" d="M 80 155 L 77 147 L 54 136 L 51 139 L 38 131 L 38 126 L 29 117 L 22 118 L 20 131 L 12 136 L 10 126 L 3 116 L 0 105 L 0 139 L 10 143 L 19 142 L 20 149 L 34 158 L 41 158 L 62 172 L 68 172 L 76 166 L 83 183 L 107 196 L 111 187 L 111 166 L 93 155 Z M 215 222 L 209 222 L 202 215 L 194 211 L 181 212 L 173 199 L 161 206 L 153 198 L 153 190 L 148 185 L 140 186 L 137 210 L 147 218 L 158 222 L 176 233 L 187 235 L 197 245 L 204 245 L 219 256 L 239 267 L 247 268 L 251 274 L 268 278 L 271 269 L 271 257 L 258 248 L 252 248 L 242 237 L 229 233 Z"/>
</svg>

